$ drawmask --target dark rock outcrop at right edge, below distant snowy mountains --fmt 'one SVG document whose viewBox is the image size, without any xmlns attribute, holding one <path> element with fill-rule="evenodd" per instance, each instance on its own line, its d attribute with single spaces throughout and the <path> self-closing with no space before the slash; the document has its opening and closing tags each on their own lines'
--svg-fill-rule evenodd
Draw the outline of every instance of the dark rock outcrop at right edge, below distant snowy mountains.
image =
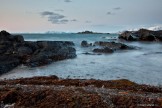
<svg viewBox="0 0 162 108">
<path fill-rule="evenodd" d="M 125 31 L 119 35 L 119 39 L 127 41 L 162 41 L 162 30 L 140 29 L 138 31 Z"/>
</svg>

